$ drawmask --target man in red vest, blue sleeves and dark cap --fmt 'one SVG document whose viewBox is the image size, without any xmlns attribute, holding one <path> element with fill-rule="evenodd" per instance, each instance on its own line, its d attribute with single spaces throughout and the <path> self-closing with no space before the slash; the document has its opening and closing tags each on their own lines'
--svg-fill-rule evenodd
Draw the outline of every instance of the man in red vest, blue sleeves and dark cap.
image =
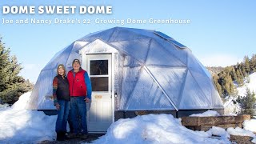
<svg viewBox="0 0 256 144">
<path fill-rule="evenodd" d="M 88 137 L 86 103 L 90 102 L 91 83 L 89 75 L 86 70 L 82 70 L 78 59 L 74 59 L 72 66 L 73 69 L 67 74 L 67 79 L 70 83 L 70 117 L 74 126 L 74 131 L 70 134 L 70 137 L 78 138 L 78 134 L 82 132 L 80 138 L 86 139 Z M 79 129 L 77 114 L 81 118 L 82 131 Z"/>
</svg>

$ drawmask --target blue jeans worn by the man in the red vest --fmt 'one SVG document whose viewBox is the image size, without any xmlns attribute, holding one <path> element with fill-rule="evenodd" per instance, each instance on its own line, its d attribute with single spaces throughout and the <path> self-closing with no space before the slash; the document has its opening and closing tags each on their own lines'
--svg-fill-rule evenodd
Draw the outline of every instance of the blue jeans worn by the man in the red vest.
<svg viewBox="0 0 256 144">
<path fill-rule="evenodd" d="M 87 122 L 86 122 L 86 101 L 84 100 L 85 98 L 86 98 L 85 96 L 70 97 L 70 117 L 71 117 L 71 122 L 74 126 L 75 134 L 81 133 L 80 131 L 81 129 L 79 129 L 77 114 L 79 114 L 81 118 L 82 134 L 88 134 Z"/>
</svg>

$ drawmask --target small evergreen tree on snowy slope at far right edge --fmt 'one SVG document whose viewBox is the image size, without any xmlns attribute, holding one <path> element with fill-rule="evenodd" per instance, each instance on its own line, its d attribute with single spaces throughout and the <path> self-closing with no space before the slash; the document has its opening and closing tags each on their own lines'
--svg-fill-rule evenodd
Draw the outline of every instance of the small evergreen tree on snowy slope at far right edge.
<svg viewBox="0 0 256 144">
<path fill-rule="evenodd" d="M 246 96 L 241 98 L 238 102 L 240 102 L 242 107 L 242 114 L 250 114 L 254 115 L 254 105 L 256 102 L 255 94 L 251 93 L 248 88 L 246 88 Z"/>
</svg>

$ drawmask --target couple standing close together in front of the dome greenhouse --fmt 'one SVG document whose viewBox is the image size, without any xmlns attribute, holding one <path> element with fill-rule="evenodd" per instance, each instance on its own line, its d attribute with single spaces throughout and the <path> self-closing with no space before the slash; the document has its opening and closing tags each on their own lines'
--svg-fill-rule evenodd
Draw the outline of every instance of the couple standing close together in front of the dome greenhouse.
<svg viewBox="0 0 256 144">
<path fill-rule="evenodd" d="M 58 110 L 55 131 L 57 140 L 66 139 L 66 123 L 70 113 L 71 131 L 70 138 L 87 138 L 86 103 L 91 98 L 91 83 L 86 70 L 82 70 L 80 61 L 74 59 L 73 69 L 66 75 L 64 65 L 57 67 L 57 76 L 53 81 L 54 106 Z M 81 122 L 79 122 L 79 118 Z M 80 126 L 81 123 L 81 126 Z"/>
</svg>

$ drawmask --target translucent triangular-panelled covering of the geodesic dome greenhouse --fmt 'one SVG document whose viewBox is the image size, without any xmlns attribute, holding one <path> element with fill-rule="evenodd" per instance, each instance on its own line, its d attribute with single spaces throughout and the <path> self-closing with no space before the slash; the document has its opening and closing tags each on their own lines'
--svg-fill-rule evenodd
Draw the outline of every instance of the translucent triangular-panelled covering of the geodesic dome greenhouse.
<svg viewBox="0 0 256 144">
<path fill-rule="evenodd" d="M 114 56 L 115 110 L 223 109 L 211 75 L 189 48 L 155 30 L 124 27 L 88 34 L 55 54 L 38 76 L 28 109 L 55 109 L 56 68 L 62 63 L 70 70 L 81 50 Z"/>
</svg>

